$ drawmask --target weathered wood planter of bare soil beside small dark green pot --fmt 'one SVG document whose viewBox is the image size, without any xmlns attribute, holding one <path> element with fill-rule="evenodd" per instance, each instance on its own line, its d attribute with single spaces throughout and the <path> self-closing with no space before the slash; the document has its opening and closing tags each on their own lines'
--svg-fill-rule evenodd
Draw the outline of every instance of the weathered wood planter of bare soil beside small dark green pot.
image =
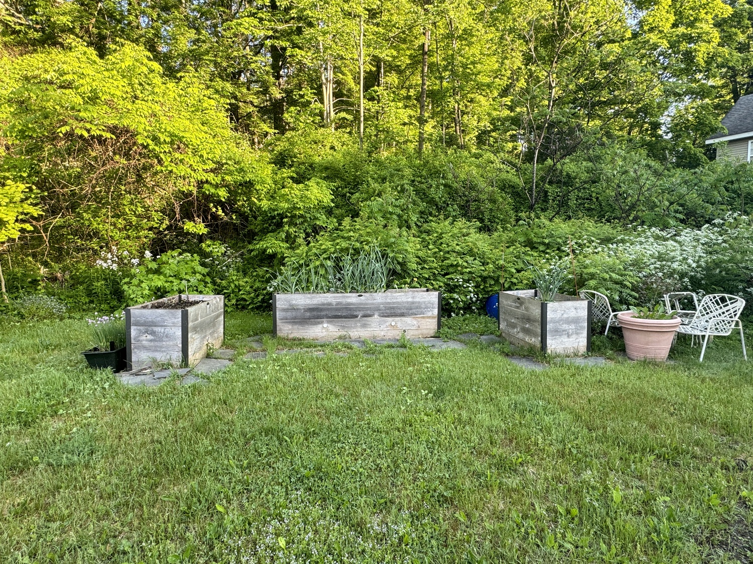
<svg viewBox="0 0 753 564">
<path fill-rule="evenodd" d="M 170 296 L 126 308 L 126 356 L 128 368 L 143 368 L 154 361 L 194 365 L 206 356 L 207 346 L 220 347 L 225 333 L 224 296 L 184 294 L 199 301 L 184 309 L 163 309 L 178 302 Z"/>
</svg>

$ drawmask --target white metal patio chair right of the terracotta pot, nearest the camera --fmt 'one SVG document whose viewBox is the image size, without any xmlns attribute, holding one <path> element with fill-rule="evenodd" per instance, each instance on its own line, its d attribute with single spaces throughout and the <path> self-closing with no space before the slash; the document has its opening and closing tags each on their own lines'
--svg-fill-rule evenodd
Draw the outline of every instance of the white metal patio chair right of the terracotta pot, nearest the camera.
<svg viewBox="0 0 753 564">
<path fill-rule="evenodd" d="M 742 335 L 742 322 L 740 314 L 745 308 L 745 300 L 730 294 L 708 294 L 703 296 L 698 311 L 687 325 L 678 327 L 677 332 L 684 335 L 694 335 L 699 339 L 703 337 L 703 347 L 698 362 L 703 362 L 703 354 L 706 353 L 706 344 L 709 337 L 726 337 L 736 327 L 740 329 L 740 343 L 742 344 L 742 358 L 748 359 L 745 352 L 745 336 Z M 692 346 L 692 344 L 691 344 Z"/>
</svg>

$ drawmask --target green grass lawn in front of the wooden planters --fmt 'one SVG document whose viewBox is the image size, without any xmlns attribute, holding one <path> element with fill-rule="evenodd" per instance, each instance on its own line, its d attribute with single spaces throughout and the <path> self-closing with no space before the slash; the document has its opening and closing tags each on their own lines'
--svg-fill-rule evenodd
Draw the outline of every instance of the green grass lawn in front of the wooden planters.
<svg viewBox="0 0 753 564">
<path fill-rule="evenodd" d="M 734 338 L 703 365 L 412 347 L 152 389 L 84 368 L 87 338 L 0 327 L 0 562 L 748 561 L 753 363 Z"/>
</svg>

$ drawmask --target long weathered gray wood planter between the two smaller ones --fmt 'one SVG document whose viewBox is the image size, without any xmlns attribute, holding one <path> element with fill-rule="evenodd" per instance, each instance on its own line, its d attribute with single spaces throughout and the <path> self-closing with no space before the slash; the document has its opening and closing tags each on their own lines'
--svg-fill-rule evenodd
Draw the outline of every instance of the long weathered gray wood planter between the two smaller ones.
<svg viewBox="0 0 753 564">
<path fill-rule="evenodd" d="M 336 338 L 431 337 L 440 328 L 442 294 L 425 288 L 364 294 L 275 294 L 275 335 Z"/>
</svg>

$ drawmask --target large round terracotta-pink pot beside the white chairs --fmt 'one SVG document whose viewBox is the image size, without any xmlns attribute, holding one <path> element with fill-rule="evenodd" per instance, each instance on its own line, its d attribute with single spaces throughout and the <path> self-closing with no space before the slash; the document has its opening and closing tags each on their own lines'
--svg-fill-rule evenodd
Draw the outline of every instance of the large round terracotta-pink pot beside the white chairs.
<svg viewBox="0 0 753 564">
<path fill-rule="evenodd" d="M 632 311 L 617 314 L 625 338 L 625 353 L 630 360 L 664 361 L 672 347 L 680 318 L 636 319 Z"/>
</svg>

